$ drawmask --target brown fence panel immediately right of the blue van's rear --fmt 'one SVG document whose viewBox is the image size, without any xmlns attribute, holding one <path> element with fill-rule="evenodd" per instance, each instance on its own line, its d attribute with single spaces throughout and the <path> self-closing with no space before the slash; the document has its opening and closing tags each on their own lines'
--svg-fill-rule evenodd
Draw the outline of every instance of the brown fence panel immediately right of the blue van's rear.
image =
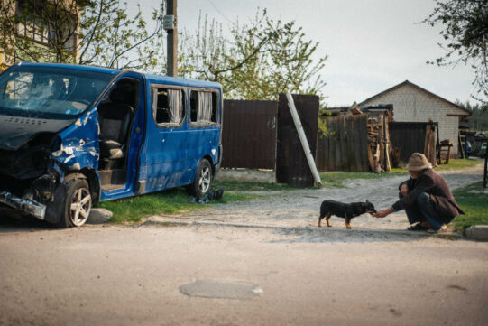
<svg viewBox="0 0 488 326">
<path fill-rule="evenodd" d="M 276 101 L 224 101 L 222 167 L 274 169 Z"/>
</svg>

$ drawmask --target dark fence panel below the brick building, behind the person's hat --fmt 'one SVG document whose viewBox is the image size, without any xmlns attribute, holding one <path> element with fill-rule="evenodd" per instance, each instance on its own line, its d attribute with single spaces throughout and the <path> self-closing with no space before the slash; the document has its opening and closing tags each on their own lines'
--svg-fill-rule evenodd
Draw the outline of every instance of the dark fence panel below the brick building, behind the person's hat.
<svg viewBox="0 0 488 326">
<path fill-rule="evenodd" d="M 434 139 L 427 139 L 426 132 L 427 128 L 437 126 L 430 122 L 390 122 L 390 141 L 391 146 L 397 147 L 400 150 L 400 161 L 407 163 L 409 161 L 410 155 L 413 153 L 424 153 L 434 152 L 432 148 L 426 148 L 426 144 L 434 143 Z M 432 145 L 431 145 L 432 147 Z M 429 161 L 435 164 L 435 154 L 434 157 L 428 155 Z"/>
</svg>

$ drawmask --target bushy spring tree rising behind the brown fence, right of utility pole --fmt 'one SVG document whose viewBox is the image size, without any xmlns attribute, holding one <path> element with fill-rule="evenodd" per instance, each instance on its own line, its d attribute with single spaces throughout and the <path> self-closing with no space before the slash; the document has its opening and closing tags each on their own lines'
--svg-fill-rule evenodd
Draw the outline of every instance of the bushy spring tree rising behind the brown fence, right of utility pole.
<svg viewBox="0 0 488 326">
<path fill-rule="evenodd" d="M 220 82 L 227 98 L 276 99 L 286 90 L 321 95 L 327 56 L 315 59 L 318 43 L 307 41 L 294 22 L 275 21 L 262 10 L 250 23 L 233 23 L 229 33 L 232 41 L 221 24 L 200 18 L 197 33 L 181 37 L 180 73 Z"/>
</svg>

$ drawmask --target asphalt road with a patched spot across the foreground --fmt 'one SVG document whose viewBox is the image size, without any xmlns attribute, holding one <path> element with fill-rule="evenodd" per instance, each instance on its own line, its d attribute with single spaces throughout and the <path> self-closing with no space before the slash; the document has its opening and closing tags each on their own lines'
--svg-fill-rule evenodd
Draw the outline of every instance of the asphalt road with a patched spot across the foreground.
<svg viewBox="0 0 488 326">
<path fill-rule="evenodd" d="M 488 244 L 0 224 L 0 325 L 486 325 Z"/>
</svg>

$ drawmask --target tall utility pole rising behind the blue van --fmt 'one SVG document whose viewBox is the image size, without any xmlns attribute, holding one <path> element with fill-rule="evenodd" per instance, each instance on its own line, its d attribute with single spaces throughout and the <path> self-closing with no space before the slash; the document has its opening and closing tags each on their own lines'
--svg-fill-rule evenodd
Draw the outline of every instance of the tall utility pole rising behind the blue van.
<svg viewBox="0 0 488 326">
<path fill-rule="evenodd" d="M 176 14 L 176 7 L 178 0 L 166 1 L 166 15 L 164 16 L 164 29 L 168 32 L 166 40 L 168 47 L 168 62 L 167 72 L 168 76 L 178 76 L 178 20 Z"/>
</svg>

